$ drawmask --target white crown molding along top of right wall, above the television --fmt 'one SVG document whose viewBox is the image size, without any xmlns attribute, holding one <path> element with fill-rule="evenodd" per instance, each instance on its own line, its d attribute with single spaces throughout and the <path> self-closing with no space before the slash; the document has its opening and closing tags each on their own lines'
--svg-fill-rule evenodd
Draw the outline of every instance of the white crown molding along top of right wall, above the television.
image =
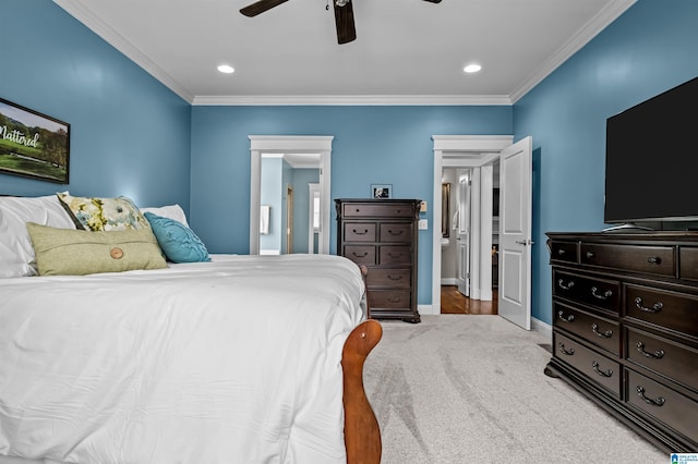
<svg viewBox="0 0 698 464">
<path fill-rule="evenodd" d="M 561 64 L 567 61 L 573 54 L 589 44 L 601 30 L 613 23 L 619 15 L 633 7 L 637 0 L 614 0 L 602 11 L 592 17 L 567 44 L 565 44 L 555 54 L 553 54 L 538 72 L 533 73 L 521 86 L 516 88 L 509 99 L 512 105 L 528 94 L 533 87 L 540 84 Z"/>
</svg>

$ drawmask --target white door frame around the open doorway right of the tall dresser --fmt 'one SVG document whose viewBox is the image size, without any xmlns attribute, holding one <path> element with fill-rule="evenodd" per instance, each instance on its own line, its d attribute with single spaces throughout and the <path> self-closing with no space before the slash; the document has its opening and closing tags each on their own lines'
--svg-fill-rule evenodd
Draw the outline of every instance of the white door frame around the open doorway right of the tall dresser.
<svg viewBox="0 0 698 464">
<path fill-rule="evenodd" d="M 479 168 L 491 164 L 500 151 L 514 143 L 513 135 L 432 135 L 434 142 L 434 194 L 432 221 L 441 224 L 441 184 L 447 167 Z M 257 221 L 258 222 L 258 221 Z M 431 314 L 441 314 L 441 228 L 433 227 L 432 240 L 432 306 Z M 426 314 L 424 308 L 420 313 Z"/>
</svg>

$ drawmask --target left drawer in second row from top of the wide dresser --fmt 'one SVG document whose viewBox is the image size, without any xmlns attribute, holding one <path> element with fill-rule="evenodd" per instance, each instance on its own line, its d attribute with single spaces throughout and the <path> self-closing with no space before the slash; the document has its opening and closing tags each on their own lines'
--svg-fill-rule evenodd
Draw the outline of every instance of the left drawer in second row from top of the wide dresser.
<svg viewBox="0 0 698 464">
<path fill-rule="evenodd" d="M 553 271 L 553 295 L 618 312 L 621 284 L 615 280 Z"/>
</svg>

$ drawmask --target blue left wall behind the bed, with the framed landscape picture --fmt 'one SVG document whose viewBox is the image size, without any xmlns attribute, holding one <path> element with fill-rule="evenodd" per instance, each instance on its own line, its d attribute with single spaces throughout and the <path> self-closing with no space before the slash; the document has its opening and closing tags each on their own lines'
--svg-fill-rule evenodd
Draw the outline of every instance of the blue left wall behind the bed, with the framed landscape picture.
<svg viewBox="0 0 698 464">
<path fill-rule="evenodd" d="M 2 0 L 0 15 L 0 97 L 71 124 L 70 184 L 0 174 L 0 193 L 188 210 L 190 105 L 50 0 Z"/>
</svg>

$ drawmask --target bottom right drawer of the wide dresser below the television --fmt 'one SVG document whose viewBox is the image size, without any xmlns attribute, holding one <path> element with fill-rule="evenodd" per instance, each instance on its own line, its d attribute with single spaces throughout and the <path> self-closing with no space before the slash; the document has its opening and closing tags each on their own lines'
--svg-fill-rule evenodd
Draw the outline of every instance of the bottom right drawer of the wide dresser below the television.
<svg viewBox="0 0 698 464">
<path fill-rule="evenodd" d="M 627 402 L 679 434 L 698 437 L 698 403 L 669 387 L 627 369 Z"/>
</svg>

